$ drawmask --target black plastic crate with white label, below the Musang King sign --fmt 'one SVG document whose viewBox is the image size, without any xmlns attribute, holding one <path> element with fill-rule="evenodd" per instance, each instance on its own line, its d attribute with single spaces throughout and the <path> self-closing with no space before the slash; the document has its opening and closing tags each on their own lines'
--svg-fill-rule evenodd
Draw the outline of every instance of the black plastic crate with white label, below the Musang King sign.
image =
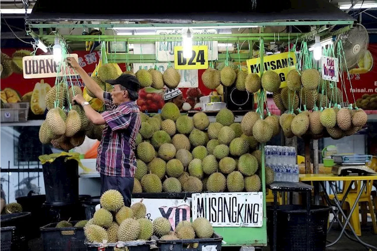
<svg viewBox="0 0 377 251">
<path fill-rule="evenodd" d="M 189 248 L 187 246 L 190 243 L 198 243 L 197 248 Z M 192 239 L 192 240 L 158 240 L 157 246 L 159 251 L 181 251 L 181 250 L 197 250 L 201 251 L 202 247 L 208 245 L 216 246 L 216 250 L 221 250 L 222 237 L 216 233 L 213 233 L 212 238 L 208 239 Z"/>
</svg>

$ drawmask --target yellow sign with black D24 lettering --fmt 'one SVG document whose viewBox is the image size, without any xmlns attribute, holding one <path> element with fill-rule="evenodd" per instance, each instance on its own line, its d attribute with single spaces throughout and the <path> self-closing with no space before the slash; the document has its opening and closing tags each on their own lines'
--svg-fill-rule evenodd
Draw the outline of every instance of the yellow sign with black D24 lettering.
<svg viewBox="0 0 377 251">
<path fill-rule="evenodd" d="M 208 69 L 208 46 L 193 46 L 191 58 L 183 57 L 183 46 L 174 46 L 174 69 Z"/>
</svg>

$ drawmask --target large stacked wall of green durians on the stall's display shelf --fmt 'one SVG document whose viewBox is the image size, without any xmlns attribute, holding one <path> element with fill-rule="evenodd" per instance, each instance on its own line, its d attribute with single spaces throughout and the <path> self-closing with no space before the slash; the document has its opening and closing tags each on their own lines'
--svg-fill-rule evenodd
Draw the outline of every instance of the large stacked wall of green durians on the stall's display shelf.
<svg viewBox="0 0 377 251">
<path fill-rule="evenodd" d="M 181 115 L 173 103 L 153 117 L 141 115 L 133 193 L 261 190 L 258 139 L 280 132 L 276 116 L 260 119 L 255 113 L 235 123 L 233 113 L 222 109 L 210 123 L 203 112 Z M 255 132 L 248 126 L 254 120 Z M 271 135 L 266 135 L 266 123 Z M 272 183 L 273 171 L 266 168 L 265 173 L 266 183 Z"/>
</svg>

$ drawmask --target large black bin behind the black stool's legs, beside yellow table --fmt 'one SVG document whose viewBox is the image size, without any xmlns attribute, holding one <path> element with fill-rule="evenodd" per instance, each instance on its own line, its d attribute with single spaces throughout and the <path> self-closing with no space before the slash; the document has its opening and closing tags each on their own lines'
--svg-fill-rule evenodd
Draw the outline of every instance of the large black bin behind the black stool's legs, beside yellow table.
<svg viewBox="0 0 377 251">
<path fill-rule="evenodd" d="M 310 251 L 326 249 L 327 221 L 330 208 L 310 206 Z M 272 245 L 274 231 L 274 208 L 267 207 L 267 232 Z M 303 205 L 277 206 L 276 250 L 308 251 L 307 249 L 307 209 Z"/>
</svg>

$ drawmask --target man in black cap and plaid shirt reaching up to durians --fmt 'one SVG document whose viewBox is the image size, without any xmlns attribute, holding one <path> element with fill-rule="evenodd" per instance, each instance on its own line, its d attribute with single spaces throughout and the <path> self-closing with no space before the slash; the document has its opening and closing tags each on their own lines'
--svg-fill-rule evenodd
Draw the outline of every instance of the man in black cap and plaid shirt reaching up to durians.
<svg viewBox="0 0 377 251">
<path fill-rule="evenodd" d="M 135 140 L 141 126 L 140 111 L 136 104 L 140 83 L 136 77 L 122 74 L 115 80 L 106 81 L 114 89 L 111 93 L 104 92 L 74 58 L 68 57 L 67 63 L 77 71 L 87 89 L 106 106 L 105 112 L 98 113 L 83 96 L 76 95 L 73 98 L 83 106 L 90 121 L 96 125 L 106 124 L 97 154 L 101 195 L 109 189 L 118 190 L 123 195 L 124 205 L 130 207 L 136 170 Z"/>
</svg>

